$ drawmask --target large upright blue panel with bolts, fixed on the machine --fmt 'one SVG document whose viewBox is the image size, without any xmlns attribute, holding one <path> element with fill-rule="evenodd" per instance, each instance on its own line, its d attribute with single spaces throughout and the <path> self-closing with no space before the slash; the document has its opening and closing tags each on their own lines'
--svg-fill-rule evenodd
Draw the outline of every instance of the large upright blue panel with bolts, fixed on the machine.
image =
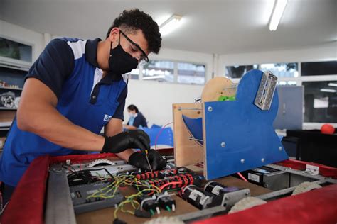
<svg viewBox="0 0 337 224">
<path fill-rule="evenodd" d="M 215 179 L 287 159 L 274 131 L 278 96 L 262 111 L 254 105 L 262 72 L 247 72 L 235 101 L 205 102 L 205 177 Z"/>
</svg>

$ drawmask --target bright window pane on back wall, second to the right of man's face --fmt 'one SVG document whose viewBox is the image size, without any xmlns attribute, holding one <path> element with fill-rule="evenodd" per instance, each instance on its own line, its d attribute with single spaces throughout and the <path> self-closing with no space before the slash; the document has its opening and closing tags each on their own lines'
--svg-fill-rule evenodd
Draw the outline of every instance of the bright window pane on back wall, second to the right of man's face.
<svg viewBox="0 0 337 224">
<path fill-rule="evenodd" d="M 178 63 L 178 83 L 205 84 L 205 65 Z"/>
</svg>

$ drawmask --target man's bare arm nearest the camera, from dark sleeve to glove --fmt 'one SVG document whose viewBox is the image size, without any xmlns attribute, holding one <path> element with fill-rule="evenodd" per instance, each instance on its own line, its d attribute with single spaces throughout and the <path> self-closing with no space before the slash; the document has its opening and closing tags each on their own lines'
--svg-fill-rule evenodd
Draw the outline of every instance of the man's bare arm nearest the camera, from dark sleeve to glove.
<svg viewBox="0 0 337 224">
<path fill-rule="evenodd" d="M 57 111 L 57 103 L 56 95 L 48 86 L 38 79 L 27 79 L 16 113 L 18 128 L 39 135 L 65 148 L 87 151 L 102 150 L 105 138 L 75 125 L 65 118 Z"/>
</svg>

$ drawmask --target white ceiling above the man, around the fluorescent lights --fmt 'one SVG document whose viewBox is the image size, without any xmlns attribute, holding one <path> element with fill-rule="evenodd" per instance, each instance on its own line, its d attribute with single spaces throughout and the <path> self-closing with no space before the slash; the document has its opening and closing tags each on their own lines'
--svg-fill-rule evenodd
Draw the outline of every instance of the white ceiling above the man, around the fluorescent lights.
<svg viewBox="0 0 337 224">
<path fill-rule="evenodd" d="M 138 7 L 157 22 L 183 16 L 163 47 L 228 54 L 301 48 L 337 40 L 337 0 L 289 0 L 276 31 L 273 0 L 0 0 L 0 19 L 39 33 L 104 38 L 115 17 Z"/>
</svg>

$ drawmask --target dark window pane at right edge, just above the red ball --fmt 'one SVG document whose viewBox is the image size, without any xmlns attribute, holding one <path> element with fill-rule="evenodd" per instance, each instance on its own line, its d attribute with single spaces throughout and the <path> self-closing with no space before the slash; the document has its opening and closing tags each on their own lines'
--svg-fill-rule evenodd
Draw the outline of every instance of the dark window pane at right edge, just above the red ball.
<svg viewBox="0 0 337 224">
<path fill-rule="evenodd" d="M 337 123 L 337 82 L 303 82 L 304 122 Z"/>
</svg>

